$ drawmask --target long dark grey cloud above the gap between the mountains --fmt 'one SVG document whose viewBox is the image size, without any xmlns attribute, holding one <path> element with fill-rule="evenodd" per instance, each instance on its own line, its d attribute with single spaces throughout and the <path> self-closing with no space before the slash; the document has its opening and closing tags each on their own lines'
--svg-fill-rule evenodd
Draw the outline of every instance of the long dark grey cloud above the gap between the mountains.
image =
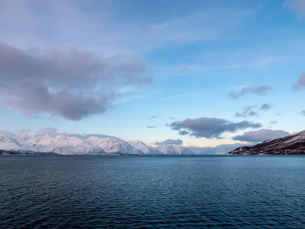
<svg viewBox="0 0 305 229">
<path fill-rule="evenodd" d="M 189 131 L 190 136 L 197 138 L 222 138 L 225 132 L 236 132 L 247 128 L 260 128 L 262 124 L 242 121 L 238 123 L 230 122 L 225 119 L 216 118 L 198 118 L 198 119 L 185 119 L 184 121 L 176 121 L 167 124 L 172 130 Z M 185 133 L 185 132 L 183 132 Z"/>
</svg>

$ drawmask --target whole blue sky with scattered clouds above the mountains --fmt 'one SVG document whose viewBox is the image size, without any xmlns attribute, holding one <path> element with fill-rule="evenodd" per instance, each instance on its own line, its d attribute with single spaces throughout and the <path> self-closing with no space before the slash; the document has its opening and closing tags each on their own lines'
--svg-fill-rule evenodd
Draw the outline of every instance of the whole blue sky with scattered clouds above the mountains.
<svg viewBox="0 0 305 229">
<path fill-rule="evenodd" d="M 305 0 L 0 0 L 0 28 L 2 131 L 217 147 L 305 129 Z"/>
</svg>

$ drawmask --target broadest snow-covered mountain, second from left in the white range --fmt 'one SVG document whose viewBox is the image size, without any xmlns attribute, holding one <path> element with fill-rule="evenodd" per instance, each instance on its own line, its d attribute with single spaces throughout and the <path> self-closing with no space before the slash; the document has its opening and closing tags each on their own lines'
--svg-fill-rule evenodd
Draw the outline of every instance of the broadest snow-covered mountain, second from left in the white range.
<svg viewBox="0 0 305 229">
<path fill-rule="evenodd" d="M 105 154 L 105 151 L 90 142 L 65 135 L 45 135 L 25 141 L 30 151 L 52 152 L 57 154 Z"/>
</svg>

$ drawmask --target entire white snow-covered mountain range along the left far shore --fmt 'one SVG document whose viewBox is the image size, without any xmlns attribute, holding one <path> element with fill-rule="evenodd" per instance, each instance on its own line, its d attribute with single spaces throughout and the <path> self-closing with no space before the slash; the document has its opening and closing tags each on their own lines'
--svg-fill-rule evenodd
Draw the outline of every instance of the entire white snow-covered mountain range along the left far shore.
<svg viewBox="0 0 305 229">
<path fill-rule="evenodd" d="M 17 139 L 0 135 L 0 154 L 63 154 L 63 155 L 194 155 L 188 147 L 161 145 L 158 148 L 144 142 L 123 141 L 120 138 L 69 135 L 16 135 Z"/>
</svg>

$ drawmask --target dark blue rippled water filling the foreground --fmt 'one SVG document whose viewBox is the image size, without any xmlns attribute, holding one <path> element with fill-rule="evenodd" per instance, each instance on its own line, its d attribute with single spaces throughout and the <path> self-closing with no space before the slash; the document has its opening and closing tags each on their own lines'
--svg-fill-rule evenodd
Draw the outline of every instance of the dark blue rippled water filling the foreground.
<svg viewBox="0 0 305 229">
<path fill-rule="evenodd" d="M 304 228 L 304 156 L 0 156 L 0 228 Z"/>
</svg>

